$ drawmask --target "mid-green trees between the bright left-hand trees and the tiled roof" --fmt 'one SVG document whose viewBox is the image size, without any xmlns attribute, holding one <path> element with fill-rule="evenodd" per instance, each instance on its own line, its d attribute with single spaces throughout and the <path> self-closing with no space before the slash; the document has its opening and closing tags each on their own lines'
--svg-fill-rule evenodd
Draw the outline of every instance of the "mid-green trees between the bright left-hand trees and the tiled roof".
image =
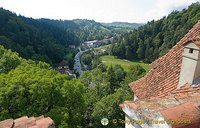
<svg viewBox="0 0 200 128">
<path fill-rule="evenodd" d="M 99 128 L 102 126 L 100 120 L 106 117 L 111 121 L 107 127 L 122 128 L 124 124 L 114 124 L 112 120 L 124 119 L 119 104 L 124 100 L 133 100 L 134 94 L 128 84 L 144 76 L 146 70 L 141 65 L 132 65 L 126 73 L 120 65 L 110 66 L 106 70 L 99 68 L 101 65 L 104 64 L 101 63 L 91 73 L 84 71 L 79 78 L 87 87 L 84 95 L 87 107 L 82 125 Z"/>
</svg>

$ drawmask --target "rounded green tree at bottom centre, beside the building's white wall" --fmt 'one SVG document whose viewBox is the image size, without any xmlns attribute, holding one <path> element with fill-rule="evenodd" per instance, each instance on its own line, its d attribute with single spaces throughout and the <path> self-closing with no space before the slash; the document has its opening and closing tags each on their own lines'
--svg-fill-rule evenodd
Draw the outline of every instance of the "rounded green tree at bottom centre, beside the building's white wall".
<svg viewBox="0 0 200 128">
<path fill-rule="evenodd" d="M 127 95 L 123 90 L 118 89 L 115 93 L 103 97 L 94 106 L 92 116 L 94 118 L 95 128 L 102 127 L 101 119 L 106 117 L 109 119 L 108 126 L 106 128 L 124 128 L 122 123 L 113 123 L 113 119 L 124 119 L 124 113 L 119 107 L 119 104 L 123 103 L 124 100 L 133 100 L 133 95 Z"/>
</svg>

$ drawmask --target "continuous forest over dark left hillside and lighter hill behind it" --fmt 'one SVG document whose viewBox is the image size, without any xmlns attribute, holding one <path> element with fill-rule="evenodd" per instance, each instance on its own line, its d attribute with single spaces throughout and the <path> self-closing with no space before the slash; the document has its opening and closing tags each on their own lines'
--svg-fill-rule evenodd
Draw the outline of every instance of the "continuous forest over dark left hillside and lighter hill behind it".
<svg viewBox="0 0 200 128">
<path fill-rule="evenodd" d="M 73 52 L 67 48 L 68 45 L 78 46 L 84 41 L 110 38 L 125 30 L 116 30 L 116 27 L 113 29 L 86 19 L 35 20 L 17 16 L 3 8 L 0 8 L 0 26 L 0 45 L 18 52 L 23 58 L 51 65 Z"/>
</svg>

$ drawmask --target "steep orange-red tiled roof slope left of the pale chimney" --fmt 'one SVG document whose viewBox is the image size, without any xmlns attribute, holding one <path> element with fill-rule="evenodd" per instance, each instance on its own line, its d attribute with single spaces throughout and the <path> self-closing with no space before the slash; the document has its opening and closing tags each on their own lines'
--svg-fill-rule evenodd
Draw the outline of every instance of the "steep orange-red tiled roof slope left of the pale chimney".
<svg viewBox="0 0 200 128">
<path fill-rule="evenodd" d="M 183 45 L 200 35 L 200 20 L 194 27 L 164 56 L 150 65 L 147 75 L 129 84 L 139 99 L 163 97 L 175 90 L 179 81 L 182 63 Z"/>
</svg>

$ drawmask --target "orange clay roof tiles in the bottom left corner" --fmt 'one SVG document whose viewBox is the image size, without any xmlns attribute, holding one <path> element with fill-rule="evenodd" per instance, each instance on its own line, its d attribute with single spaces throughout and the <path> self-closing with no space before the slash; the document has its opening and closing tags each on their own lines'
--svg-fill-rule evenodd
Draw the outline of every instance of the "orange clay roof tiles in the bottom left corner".
<svg viewBox="0 0 200 128">
<path fill-rule="evenodd" d="M 7 119 L 0 121 L 0 128 L 55 128 L 55 124 L 50 117 L 45 118 L 27 116 L 18 119 Z"/>
</svg>

